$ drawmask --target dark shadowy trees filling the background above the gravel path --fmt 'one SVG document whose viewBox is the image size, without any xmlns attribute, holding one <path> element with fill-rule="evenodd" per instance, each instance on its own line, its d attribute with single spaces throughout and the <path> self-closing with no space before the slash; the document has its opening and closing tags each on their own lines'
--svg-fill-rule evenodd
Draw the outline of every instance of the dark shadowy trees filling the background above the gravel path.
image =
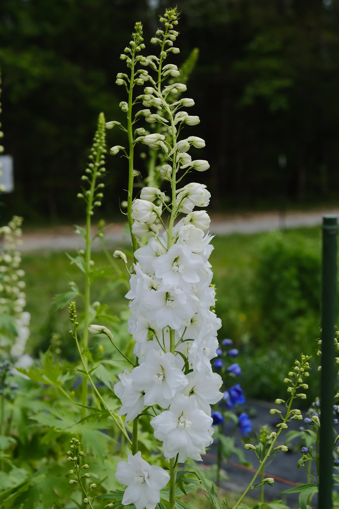
<svg viewBox="0 0 339 509">
<path fill-rule="evenodd" d="M 339 0 L 181 0 L 178 65 L 199 61 L 188 97 L 206 140 L 215 208 L 334 203 L 339 197 Z M 124 119 L 115 85 L 135 21 L 148 40 L 162 0 L 2 0 L 0 66 L 6 153 L 15 186 L 4 215 L 74 220 L 96 118 Z M 108 145 L 124 145 L 117 129 Z M 280 156 L 281 164 L 278 164 Z M 283 157 L 285 156 L 285 157 Z M 284 158 L 287 163 L 284 165 Z M 140 169 L 142 161 L 140 160 Z M 124 159 L 108 157 L 104 213 L 125 199 Z M 285 206 L 284 205 L 284 206 Z"/>
</svg>

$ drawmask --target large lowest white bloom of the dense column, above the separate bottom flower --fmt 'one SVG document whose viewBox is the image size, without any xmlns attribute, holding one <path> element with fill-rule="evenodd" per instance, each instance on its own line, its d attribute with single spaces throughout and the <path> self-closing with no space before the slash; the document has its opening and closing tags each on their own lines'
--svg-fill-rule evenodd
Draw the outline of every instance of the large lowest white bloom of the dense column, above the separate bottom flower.
<svg viewBox="0 0 339 509">
<path fill-rule="evenodd" d="M 186 458 L 201 461 L 205 447 L 212 442 L 213 419 L 198 408 L 195 396 L 178 394 L 169 410 L 150 421 L 154 436 L 163 441 L 165 458 L 175 458 L 182 463 Z"/>
</svg>

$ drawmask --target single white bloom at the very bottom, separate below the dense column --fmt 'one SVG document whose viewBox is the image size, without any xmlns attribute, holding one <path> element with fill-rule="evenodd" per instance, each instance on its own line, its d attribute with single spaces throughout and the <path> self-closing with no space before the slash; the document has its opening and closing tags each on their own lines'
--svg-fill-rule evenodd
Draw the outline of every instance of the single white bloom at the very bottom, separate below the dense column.
<svg viewBox="0 0 339 509">
<path fill-rule="evenodd" d="M 134 504 L 136 509 L 155 509 L 160 502 L 160 490 L 167 485 L 170 476 L 163 468 L 149 465 L 138 451 L 134 456 L 128 456 L 128 463 L 119 461 L 115 478 L 127 486 L 122 497 L 123 505 Z"/>
</svg>

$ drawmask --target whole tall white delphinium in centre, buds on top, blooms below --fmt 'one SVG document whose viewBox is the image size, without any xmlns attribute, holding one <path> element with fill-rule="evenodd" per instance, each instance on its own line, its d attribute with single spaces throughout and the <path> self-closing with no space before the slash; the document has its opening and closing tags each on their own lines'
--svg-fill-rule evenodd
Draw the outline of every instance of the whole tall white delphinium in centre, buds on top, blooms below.
<svg viewBox="0 0 339 509">
<path fill-rule="evenodd" d="M 159 56 L 137 52 L 137 45 L 144 49 L 142 26 L 137 23 L 133 40 L 120 56 L 126 61 L 128 74 L 117 76 L 117 84 L 126 87 L 129 95 L 128 101 L 120 103 L 121 110 L 127 113 L 127 125 L 118 127 L 127 132 L 129 144 L 124 151 L 129 160 L 127 216 L 134 265 L 131 290 L 126 297 L 131 310 L 128 329 L 135 340 L 138 361 L 131 371 L 119 374 L 120 381 L 114 386 L 122 405 L 119 415 L 126 415 L 125 423 L 133 420 L 133 454 L 128 463 L 118 464 L 116 478 L 127 486 L 122 504 L 134 503 L 137 509 L 154 509 L 160 501 L 159 490 L 168 481 L 169 509 L 174 509 L 179 463 L 187 458 L 201 461 L 206 447 L 213 442 L 213 421 L 220 423 L 224 418 L 220 412 L 211 415 L 210 408 L 223 398 L 222 378 L 213 373 L 211 365 L 218 356 L 217 331 L 221 321 L 213 312 L 215 289 L 208 261 L 213 249 L 212 236 L 208 234 L 210 218 L 205 210 L 194 210 L 207 207 L 211 195 L 205 184 L 178 185 L 189 172 L 194 169 L 204 172 L 209 164 L 204 159 L 193 160 L 189 154 L 191 146 L 203 149 L 204 140 L 199 136 L 182 136 L 187 125 L 196 126 L 200 122 L 194 111 L 189 115 L 181 109 L 194 107 L 194 100 L 189 97 L 176 100 L 173 96 L 186 91 L 187 86 L 168 80 L 180 78 L 177 66 L 167 62 L 171 53 L 179 52 L 173 46 L 178 36 L 174 30 L 177 9 L 167 9 L 160 22 L 164 24 L 163 30 L 159 29 L 151 39 L 152 44 L 160 46 Z M 144 69 L 138 69 L 137 64 Z M 143 94 L 133 101 L 133 89 L 141 82 Z M 143 107 L 134 112 L 138 103 Z M 135 125 L 142 121 L 155 124 L 153 132 Z M 139 195 L 133 195 L 136 144 L 160 154 L 160 174 L 171 185 L 169 199 L 152 184 L 142 187 Z M 117 154 L 119 150 L 122 148 L 115 146 L 111 153 Z M 221 369 L 221 358 L 213 366 L 218 361 Z M 234 371 L 239 374 L 236 368 Z M 238 399 L 241 400 L 240 395 Z M 140 414 L 143 415 L 145 406 L 152 409 L 147 414 L 155 412 L 155 404 L 157 413 L 150 424 L 169 460 L 169 475 L 159 469 L 158 485 L 151 479 L 151 469 L 159 467 L 150 467 L 141 458 L 136 438 Z"/>
</svg>

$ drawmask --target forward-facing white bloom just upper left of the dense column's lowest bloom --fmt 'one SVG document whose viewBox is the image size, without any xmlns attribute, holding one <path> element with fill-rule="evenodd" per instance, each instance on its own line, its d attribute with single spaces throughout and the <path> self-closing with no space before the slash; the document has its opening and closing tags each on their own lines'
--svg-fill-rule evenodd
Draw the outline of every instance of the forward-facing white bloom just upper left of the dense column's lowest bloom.
<svg viewBox="0 0 339 509">
<path fill-rule="evenodd" d="M 167 408 L 178 392 L 188 384 L 186 376 L 175 365 L 175 356 L 170 353 L 150 350 L 144 362 L 131 373 L 132 387 L 145 387 L 145 405 L 157 403 Z"/>
</svg>

